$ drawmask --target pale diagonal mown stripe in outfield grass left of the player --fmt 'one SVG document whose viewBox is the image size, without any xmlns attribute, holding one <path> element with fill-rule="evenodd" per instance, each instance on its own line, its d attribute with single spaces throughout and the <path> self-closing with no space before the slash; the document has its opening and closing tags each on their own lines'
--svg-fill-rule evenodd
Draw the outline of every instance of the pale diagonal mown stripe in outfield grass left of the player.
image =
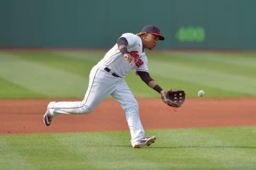
<svg viewBox="0 0 256 170">
<path fill-rule="evenodd" d="M 47 97 L 83 97 L 87 89 L 87 78 L 77 74 L 9 54 L 0 53 L 0 58 L 0 77 Z"/>
</svg>

